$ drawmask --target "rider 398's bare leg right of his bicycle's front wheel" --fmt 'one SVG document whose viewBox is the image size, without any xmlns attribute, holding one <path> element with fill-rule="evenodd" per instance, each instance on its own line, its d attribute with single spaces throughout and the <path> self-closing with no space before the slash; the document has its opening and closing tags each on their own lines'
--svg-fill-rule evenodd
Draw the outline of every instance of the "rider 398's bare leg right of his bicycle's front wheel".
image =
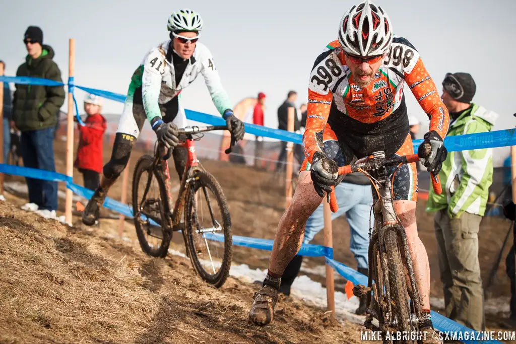
<svg viewBox="0 0 516 344">
<path fill-rule="evenodd" d="M 407 200 L 394 201 L 394 211 L 405 228 L 409 242 L 410 256 L 417 288 L 420 291 L 422 307 L 430 308 L 430 266 L 425 245 L 417 235 L 416 202 Z"/>
</svg>

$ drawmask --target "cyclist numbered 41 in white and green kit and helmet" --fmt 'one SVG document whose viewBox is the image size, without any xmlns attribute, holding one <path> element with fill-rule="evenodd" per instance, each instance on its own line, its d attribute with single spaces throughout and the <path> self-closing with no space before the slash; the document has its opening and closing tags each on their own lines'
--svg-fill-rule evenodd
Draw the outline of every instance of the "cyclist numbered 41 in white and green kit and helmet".
<svg viewBox="0 0 516 344">
<path fill-rule="evenodd" d="M 187 151 L 178 145 L 178 127 L 185 127 L 187 121 L 178 95 L 199 74 L 204 76 L 213 103 L 225 119 L 233 138 L 244 138 L 244 124 L 233 114 L 231 101 L 222 87 L 212 54 L 205 45 L 197 42 L 203 28 L 199 14 L 189 9 L 174 12 L 167 28 L 170 40 L 153 47 L 133 73 L 111 159 L 104 166 L 99 188 L 83 211 L 83 223 L 86 225 L 93 225 L 99 219 L 99 207 L 104 203 L 109 187 L 127 165 L 146 118 L 157 139 L 167 148 L 173 148 L 175 169 L 181 179 Z"/>
</svg>

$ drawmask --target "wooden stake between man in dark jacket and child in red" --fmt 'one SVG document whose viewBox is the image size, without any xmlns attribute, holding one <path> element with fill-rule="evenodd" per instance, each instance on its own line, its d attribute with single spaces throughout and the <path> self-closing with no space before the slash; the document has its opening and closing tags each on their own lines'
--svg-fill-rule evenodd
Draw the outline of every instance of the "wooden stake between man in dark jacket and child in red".
<svg viewBox="0 0 516 344">
<path fill-rule="evenodd" d="M 70 38 L 70 50 L 68 60 L 68 76 L 73 77 L 75 61 L 75 41 Z M 68 89 L 68 116 L 67 116 L 67 141 L 66 141 L 66 175 L 73 178 L 73 94 Z M 66 189 L 65 218 L 72 223 L 72 197 L 73 192 Z"/>
</svg>

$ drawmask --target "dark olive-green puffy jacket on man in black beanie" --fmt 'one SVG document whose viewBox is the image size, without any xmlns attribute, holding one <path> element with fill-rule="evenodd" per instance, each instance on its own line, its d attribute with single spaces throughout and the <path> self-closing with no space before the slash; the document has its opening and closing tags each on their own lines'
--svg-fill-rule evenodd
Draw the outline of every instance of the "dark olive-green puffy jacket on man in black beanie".
<svg viewBox="0 0 516 344">
<path fill-rule="evenodd" d="M 40 57 L 33 59 L 27 55 L 25 63 L 18 67 L 16 76 L 51 79 L 62 83 L 61 72 L 52 60 L 54 51 L 43 45 Z M 54 127 L 57 112 L 65 103 L 63 86 L 49 87 L 16 84 L 12 101 L 12 120 L 22 132 Z"/>
</svg>

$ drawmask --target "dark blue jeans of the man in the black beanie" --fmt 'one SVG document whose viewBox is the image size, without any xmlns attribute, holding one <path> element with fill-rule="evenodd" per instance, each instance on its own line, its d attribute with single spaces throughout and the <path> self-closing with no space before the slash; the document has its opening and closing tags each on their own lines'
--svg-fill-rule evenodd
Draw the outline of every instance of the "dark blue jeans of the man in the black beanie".
<svg viewBox="0 0 516 344">
<path fill-rule="evenodd" d="M 21 151 L 23 166 L 45 171 L 56 171 L 54 162 L 54 128 L 22 132 Z M 29 202 L 39 209 L 57 210 L 57 182 L 25 178 Z"/>
</svg>

